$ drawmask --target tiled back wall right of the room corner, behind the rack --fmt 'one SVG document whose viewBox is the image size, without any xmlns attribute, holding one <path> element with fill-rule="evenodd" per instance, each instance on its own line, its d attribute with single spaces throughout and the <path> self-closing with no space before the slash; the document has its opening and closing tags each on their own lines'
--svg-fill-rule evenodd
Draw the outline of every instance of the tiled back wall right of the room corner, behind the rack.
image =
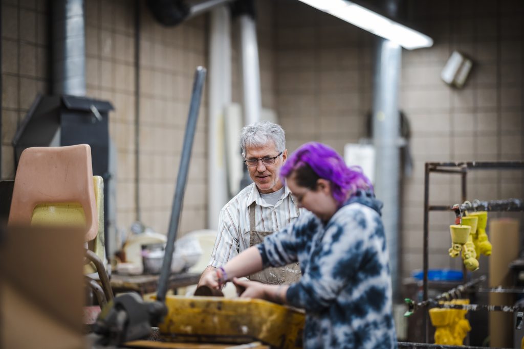
<svg viewBox="0 0 524 349">
<path fill-rule="evenodd" d="M 412 176 L 403 183 L 404 276 L 422 267 L 424 162 L 521 161 L 524 133 L 522 2 L 412 1 L 410 5 L 408 13 L 417 19 L 414 25 L 435 44 L 402 52 L 399 106 L 410 121 L 414 163 Z M 277 2 L 277 28 L 278 110 L 288 148 L 292 151 L 317 140 L 342 152 L 345 143 L 366 137 L 374 37 L 291 0 Z M 475 64 L 461 90 L 440 80 L 453 50 L 470 56 Z M 471 173 L 468 197 L 524 197 L 521 172 Z M 432 175 L 431 203 L 459 201 L 459 184 L 457 178 Z M 452 221 L 451 213 L 431 213 L 433 268 L 460 267 L 447 256 L 447 226 Z"/>
</svg>

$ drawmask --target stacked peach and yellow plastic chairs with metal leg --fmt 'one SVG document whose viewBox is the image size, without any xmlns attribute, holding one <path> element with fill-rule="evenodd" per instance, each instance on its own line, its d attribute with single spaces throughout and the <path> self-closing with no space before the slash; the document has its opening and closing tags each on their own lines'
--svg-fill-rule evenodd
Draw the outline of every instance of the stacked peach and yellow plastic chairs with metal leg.
<svg viewBox="0 0 524 349">
<path fill-rule="evenodd" d="M 105 271 L 104 182 L 93 176 L 88 144 L 27 148 L 20 155 L 8 226 L 85 227 L 84 274 L 100 305 L 113 299 Z M 97 274 L 97 277 L 95 276 Z M 103 292 L 102 292 L 103 291 Z"/>
</svg>

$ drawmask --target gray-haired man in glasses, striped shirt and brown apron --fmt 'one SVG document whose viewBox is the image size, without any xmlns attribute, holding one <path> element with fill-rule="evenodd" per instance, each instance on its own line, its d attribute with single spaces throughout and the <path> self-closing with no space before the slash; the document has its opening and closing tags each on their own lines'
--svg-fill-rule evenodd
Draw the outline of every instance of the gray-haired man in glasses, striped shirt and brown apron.
<svg viewBox="0 0 524 349">
<path fill-rule="evenodd" d="M 221 267 L 228 260 L 296 220 L 302 210 L 280 181 L 280 167 L 288 155 L 284 130 L 269 121 L 255 122 L 242 129 L 240 144 L 254 183 L 242 189 L 220 211 L 215 246 L 201 280 L 208 273 L 225 277 Z M 250 280 L 265 284 L 291 284 L 299 278 L 298 263 L 249 276 Z"/>
</svg>

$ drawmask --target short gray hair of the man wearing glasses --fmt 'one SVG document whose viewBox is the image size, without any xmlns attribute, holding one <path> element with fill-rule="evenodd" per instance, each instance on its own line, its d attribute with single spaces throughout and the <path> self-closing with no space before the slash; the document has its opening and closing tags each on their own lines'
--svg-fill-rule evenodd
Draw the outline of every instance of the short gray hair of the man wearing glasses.
<svg viewBox="0 0 524 349">
<path fill-rule="evenodd" d="M 246 156 L 246 147 L 264 147 L 267 143 L 273 142 L 277 151 L 286 149 L 286 137 L 284 130 L 271 121 L 254 122 L 242 129 L 240 134 L 240 146 L 242 147 L 242 156 Z"/>
</svg>

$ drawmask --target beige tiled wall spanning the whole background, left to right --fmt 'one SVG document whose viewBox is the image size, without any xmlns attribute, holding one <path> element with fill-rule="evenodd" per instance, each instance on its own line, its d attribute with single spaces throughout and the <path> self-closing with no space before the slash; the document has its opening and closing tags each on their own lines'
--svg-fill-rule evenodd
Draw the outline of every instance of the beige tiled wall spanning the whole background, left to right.
<svg viewBox="0 0 524 349">
<path fill-rule="evenodd" d="M 2 178 L 13 178 L 10 142 L 37 92 L 49 92 L 45 1 L 2 0 Z M 523 3 L 411 1 L 414 25 L 430 49 L 403 50 L 400 108 L 411 125 L 413 173 L 403 183 L 403 274 L 422 266 L 423 164 L 426 161 L 522 160 Z M 118 150 L 117 219 L 136 218 L 134 9 L 124 0 L 85 0 L 88 95 L 111 100 Z M 316 140 L 342 152 L 366 137 L 372 105 L 373 36 L 295 0 L 257 2 L 262 104 L 275 109 L 290 151 Z M 167 231 L 194 67 L 208 60 L 208 17 L 174 28 L 141 10 L 140 207 L 142 220 Z M 408 18 L 409 19 L 409 18 Z M 233 100 L 241 102 L 238 28 L 233 28 Z M 464 89 L 440 71 L 453 50 L 475 63 Z M 181 232 L 206 223 L 206 95 L 195 138 Z M 433 175 L 432 175 L 433 176 Z M 523 175 L 471 173 L 471 199 L 524 197 Z M 434 175 L 432 204 L 460 199 L 457 178 Z M 500 216 L 500 215 L 499 215 Z M 515 216 L 515 215 L 513 215 Z M 519 217 L 518 215 L 516 217 Z M 432 267 L 457 266 L 446 250 L 449 213 L 431 213 Z"/>
</svg>

